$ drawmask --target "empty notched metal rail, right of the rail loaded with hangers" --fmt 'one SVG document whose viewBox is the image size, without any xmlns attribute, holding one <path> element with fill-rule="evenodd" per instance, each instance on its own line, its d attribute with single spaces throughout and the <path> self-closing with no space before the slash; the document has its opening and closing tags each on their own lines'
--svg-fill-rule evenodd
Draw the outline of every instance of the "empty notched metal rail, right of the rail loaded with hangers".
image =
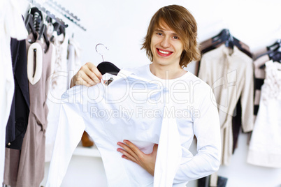
<svg viewBox="0 0 281 187">
<path fill-rule="evenodd" d="M 80 27 L 80 29 L 82 29 L 83 31 L 86 31 L 85 27 L 82 27 L 82 25 L 78 24 L 78 22 L 75 22 L 73 19 L 71 19 L 71 17 L 73 17 L 75 20 L 80 21 L 80 18 L 78 18 L 78 16 L 76 16 L 73 13 L 69 12 L 69 10 L 66 10 L 66 8 L 64 8 L 59 3 L 57 3 L 57 2 L 55 2 L 53 0 L 46 1 L 46 3 L 48 3 L 49 6 L 51 6 L 55 10 L 57 10 L 57 12 L 61 13 L 62 15 L 64 15 L 64 17 L 66 17 L 68 20 L 73 22 L 73 24 L 75 24 L 78 27 Z"/>
</svg>

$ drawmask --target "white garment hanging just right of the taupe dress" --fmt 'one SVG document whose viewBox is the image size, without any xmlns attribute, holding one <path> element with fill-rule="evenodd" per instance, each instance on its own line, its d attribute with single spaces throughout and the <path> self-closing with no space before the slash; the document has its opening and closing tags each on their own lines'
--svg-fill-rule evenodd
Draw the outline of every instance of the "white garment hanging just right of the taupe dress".
<svg viewBox="0 0 281 187">
<path fill-rule="evenodd" d="M 50 31 L 52 27 L 48 27 Z M 62 94 L 69 87 L 69 72 L 67 70 L 67 47 L 69 45 L 69 37 L 66 34 L 60 34 L 57 36 L 57 32 L 54 32 L 54 45 L 55 45 L 55 63 L 52 63 L 52 76 L 50 79 L 50 89 L 48 91 L 48 99 L 46 101 L 48 105 L 48 126 L 46 129 L 45 140 L 45 162 L 50 162 L 52 156 L 52 149 L 55 142 L 55 132 L 59 123 L 59 108 L 60 99 Z M 53 61 L 53 60 L 52 60 Z"/>
</svg>

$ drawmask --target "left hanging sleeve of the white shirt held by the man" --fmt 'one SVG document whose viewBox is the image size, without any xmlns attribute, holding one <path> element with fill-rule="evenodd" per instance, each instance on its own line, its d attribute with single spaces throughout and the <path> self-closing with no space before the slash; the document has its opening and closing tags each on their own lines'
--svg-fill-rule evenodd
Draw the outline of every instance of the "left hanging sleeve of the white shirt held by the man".
<svg viewBox="0 0 281 187">
<path fill-rule="evenodd" d="M 73 90 L 73 89 L 71 89 Z M 66 93 L 62 96 L 67 96 Z M 71 101 L 72 100 L 72 101 Z M 73 151 L 85 130 L 80 104 L 73 103 L 74 96 L 65 97 L 59 114 L 59 126 L 52 152 L 46 187 L 59 187 L 62 184 Z"/>
</svg>

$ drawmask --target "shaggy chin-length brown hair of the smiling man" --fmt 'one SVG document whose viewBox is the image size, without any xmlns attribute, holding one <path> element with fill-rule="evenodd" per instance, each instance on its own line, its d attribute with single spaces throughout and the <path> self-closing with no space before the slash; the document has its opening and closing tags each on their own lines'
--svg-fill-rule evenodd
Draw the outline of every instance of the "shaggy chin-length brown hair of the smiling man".
<svg viewBox="0 0 281 187">
<path fill-rule="evenodd" d="M 151 18 L 147 34 L 144 39 L 143 47 L 147 57 L 153 61 L 153 54 L 150 47 L 154 29 L 159 28 L 161 22 L 165 22 L 168 27 L 173 29 L 183 43 L 184 50 L 180 57 L 180 67 L 186 67 L 192 60 L 198 61 L 201 57 L 199 46 L 197 45 L 197 25 L 194 17 L 183 6 L 171 5 L 160 8 Z"/>
</svg>

